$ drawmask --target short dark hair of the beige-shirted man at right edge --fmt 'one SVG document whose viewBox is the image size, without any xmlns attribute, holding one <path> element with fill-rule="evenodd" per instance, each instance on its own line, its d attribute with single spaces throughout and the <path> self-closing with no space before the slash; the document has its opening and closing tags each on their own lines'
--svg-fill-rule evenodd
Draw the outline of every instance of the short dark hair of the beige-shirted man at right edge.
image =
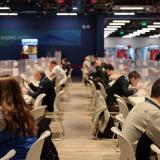
<svg viewBox="0 0 160 160">
<path fill-rule="evenodd" d="M 152 98 L 158 98 L 158 97 L 160 97 L 160 78 L 157 79 L 154 82 L 154 84 L 152 85 L 151 97 Z"/>
</svg>

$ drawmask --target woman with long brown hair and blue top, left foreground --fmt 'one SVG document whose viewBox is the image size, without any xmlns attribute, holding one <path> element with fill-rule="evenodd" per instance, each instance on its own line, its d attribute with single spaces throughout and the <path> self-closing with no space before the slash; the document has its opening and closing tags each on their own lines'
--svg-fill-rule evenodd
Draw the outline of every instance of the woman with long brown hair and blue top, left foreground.
<svg viewBox="0 0 160 160">
<path fill-rule="evenodd" d="M 15 149 L 12 160 L 25 160 L 37 140 L 34 118 L 14 78 L 0 77 L 0 93 L 0 158 Z"/>
</svg>

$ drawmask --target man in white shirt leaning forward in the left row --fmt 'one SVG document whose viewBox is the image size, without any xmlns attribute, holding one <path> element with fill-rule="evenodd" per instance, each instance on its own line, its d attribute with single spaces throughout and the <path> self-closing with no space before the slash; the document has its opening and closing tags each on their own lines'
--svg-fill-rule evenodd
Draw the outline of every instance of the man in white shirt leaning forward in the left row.
<svg viewBox="0 0 160 160">
<path fill-rule="evenodd" d="M 55 60 L 51 61 L 48 65 L 51 79 L 56 79 L 56 85 L 64 86 L 67 79 L 65 71 L 57 64 Z"/>
</svg>

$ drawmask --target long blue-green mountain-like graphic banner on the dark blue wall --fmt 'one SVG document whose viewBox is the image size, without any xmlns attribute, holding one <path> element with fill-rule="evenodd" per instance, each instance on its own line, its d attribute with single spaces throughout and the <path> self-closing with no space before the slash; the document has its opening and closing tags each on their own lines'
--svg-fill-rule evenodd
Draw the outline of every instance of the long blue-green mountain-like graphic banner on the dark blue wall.
<svg viewBox="0 0 160 160">
<path fill-rule="evenodd" d="M 80 46 L 80 30 L 0 31 L 0 46 L 21 45 L 21 39 L 36 38 L 39 45 Z"/>
</svg>

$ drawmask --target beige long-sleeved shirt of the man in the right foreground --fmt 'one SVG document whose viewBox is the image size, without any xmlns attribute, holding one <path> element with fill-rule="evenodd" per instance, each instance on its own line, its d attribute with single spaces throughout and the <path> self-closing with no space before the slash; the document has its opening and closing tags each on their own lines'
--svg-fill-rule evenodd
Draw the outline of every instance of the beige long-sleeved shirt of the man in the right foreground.
<svg viewBox="0 0 160 160">
<path fill-rule="evenodd" d="M 156 103 L 153 99 L 150 98 L 150 100 Z M 144 132 L 155 144 L 160 146 L 160 108 L 146 101 L 134 106 L 122 129 L 122 133 L 131 142 L 135 150 Z"/>
</svg>

